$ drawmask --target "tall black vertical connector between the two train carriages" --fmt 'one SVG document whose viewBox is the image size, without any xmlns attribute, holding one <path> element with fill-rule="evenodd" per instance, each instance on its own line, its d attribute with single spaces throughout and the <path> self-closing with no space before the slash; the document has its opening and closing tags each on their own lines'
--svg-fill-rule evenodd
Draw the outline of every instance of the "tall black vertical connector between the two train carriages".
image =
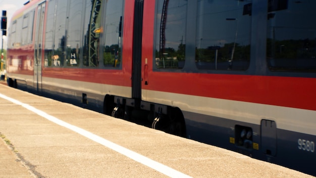
<svg viewBox="0 0 316 178">
<path fill-rule="evenodd" d="M 135 0 L 133 29 L 132 98 L 141 99 L 141 55 L 143 28 L 143 0 Z"/>
</svg>

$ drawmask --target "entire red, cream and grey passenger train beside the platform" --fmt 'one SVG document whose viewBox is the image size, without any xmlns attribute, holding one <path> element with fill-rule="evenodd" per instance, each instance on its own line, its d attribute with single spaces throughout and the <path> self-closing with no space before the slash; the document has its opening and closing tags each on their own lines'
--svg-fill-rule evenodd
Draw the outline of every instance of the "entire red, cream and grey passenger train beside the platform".
<svg viewBox="0 0 316 178">
<path fill-rule="evenodd" d="M 7 80 L 316 175 L 315 7 L 33 0 L 8 31 Z"/>
</svg>

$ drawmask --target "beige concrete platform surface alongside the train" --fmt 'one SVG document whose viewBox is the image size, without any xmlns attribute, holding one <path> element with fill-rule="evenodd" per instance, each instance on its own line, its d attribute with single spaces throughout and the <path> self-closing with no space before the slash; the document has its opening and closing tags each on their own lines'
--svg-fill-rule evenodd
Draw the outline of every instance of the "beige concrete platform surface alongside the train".
<svg viewBox="0 0 316 178">
<path fill-rule="evenodd" d="M 5 85 L 0 94 L 0 177 L 312 177 Z"/>
</svg>

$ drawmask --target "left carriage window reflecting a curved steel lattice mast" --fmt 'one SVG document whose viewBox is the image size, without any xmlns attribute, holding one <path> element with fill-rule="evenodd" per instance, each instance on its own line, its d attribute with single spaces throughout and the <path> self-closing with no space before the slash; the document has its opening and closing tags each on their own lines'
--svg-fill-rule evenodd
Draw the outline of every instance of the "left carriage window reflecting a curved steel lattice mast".
<svg viewBox="0 0 316 178">
<path fill-rule="evenodd" d="M 104 1 L 86 1 L 84 20 L 83 65 L 97 67 L 99 65 L 99 43 L 101 30 L 101 7 Z"/>
</svg>

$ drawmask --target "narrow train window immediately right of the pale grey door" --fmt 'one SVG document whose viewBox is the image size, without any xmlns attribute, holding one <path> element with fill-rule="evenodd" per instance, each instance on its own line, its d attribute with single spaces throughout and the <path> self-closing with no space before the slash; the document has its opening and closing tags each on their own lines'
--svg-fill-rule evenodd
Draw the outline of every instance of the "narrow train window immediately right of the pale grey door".
<svg viewBox="0 0 316 178">
<path fill-rule="evenodd" d="M 55 31 L 54 15 L 55 15 L 55 1 L 50 0 L 48 2 L 47 17 L 46 17 L 44 66 L 52 66 L 52 64 L 54 64 L 54 53 L 52 50 L 53 43 L 54 43 L 53 34 Z M 55 62 L 55 64 L 56 63 L 57 62 Z"/>
</svg>

